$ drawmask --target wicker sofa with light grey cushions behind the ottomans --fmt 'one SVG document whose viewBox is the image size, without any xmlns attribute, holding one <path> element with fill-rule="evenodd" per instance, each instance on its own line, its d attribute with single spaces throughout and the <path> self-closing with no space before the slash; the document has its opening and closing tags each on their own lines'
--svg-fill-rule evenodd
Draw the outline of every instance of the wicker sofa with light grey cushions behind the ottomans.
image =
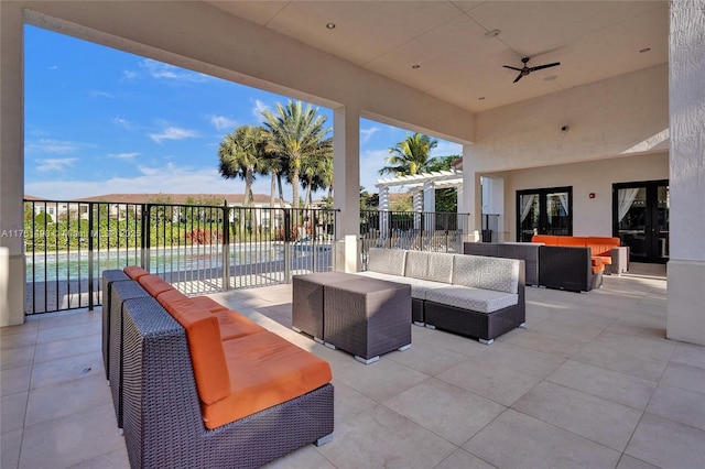
<svg viewBox="0 0 705 469">
<path fill-rule="evenodd" d="M 411 285 L 419 326 L 489 345 L 525 321 L 522 260 L 371 248 L 359 275 Z"/>
</svg>

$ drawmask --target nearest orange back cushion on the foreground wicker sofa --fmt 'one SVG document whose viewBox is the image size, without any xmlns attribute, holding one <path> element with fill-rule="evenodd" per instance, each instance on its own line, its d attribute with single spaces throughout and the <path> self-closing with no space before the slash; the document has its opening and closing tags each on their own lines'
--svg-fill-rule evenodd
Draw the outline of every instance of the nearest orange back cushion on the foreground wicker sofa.
<svg viewBox="0 0 705 469">
<path fill-rule="evenodd" d="M 193 304 L 172 305 L 170 314 L 186 329 L 200 401 L 208 405 L 227 397 L 230 394 L 230 377 L 218 319 L 207 310 L 194 307 Z"/>
</svg>

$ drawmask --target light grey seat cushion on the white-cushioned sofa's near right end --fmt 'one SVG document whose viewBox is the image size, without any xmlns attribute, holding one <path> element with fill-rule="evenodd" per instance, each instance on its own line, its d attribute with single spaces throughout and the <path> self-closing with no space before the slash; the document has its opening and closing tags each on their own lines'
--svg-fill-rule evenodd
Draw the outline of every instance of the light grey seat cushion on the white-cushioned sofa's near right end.
<svg viewBox="0 0 705 469">
<path fill-rule="evenodd" d="M 470 286 L 448 285 L 426 291 L 426 301 L 478 313 L 494 313 L 514 306 L 519 303 L 519 295 Z"/>
</svg>

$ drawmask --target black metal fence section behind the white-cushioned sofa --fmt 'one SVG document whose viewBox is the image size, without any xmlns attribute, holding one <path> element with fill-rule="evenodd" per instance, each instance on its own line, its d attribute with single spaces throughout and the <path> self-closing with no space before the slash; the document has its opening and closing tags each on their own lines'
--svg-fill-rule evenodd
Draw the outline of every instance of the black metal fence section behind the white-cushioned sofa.
<svg viewBox="0 0 705 469">
<path fill-rule="evenodd" d="M 362 254 L 369 248 L 463 252 L 469 214 L 362 210 Z"/>
</svg>

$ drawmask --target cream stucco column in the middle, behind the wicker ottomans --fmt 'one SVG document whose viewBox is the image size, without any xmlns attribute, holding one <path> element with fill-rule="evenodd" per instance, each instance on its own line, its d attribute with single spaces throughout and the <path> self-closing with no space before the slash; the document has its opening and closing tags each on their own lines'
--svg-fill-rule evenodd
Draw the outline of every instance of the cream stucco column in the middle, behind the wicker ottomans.
<svg viewBox="0 0 705 469">
<path fill-rule="evenodd" d="M 340 107 L 333 113 L 334 206 L 336 221 L 336 270 L 357 272 L 360 268 L 360 112 Z"/>
</svg>

